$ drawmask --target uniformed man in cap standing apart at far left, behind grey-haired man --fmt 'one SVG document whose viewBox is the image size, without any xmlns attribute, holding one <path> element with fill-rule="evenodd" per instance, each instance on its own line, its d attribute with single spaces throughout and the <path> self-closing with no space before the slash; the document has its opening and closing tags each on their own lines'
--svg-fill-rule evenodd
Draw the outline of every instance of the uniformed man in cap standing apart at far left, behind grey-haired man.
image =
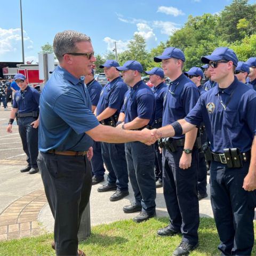
<svg viewBox="0 0 256 256">
<path fill-rule="evenodd" d="M 22 147 L 27 155 L 28 165 L 21 172 L 34 174 L 38 172 L 38 124 L 39 124 L 39 98 L 40 94 L 27 84 L 26 77 L 22 74 L 14 76 L 14 81 L 20 90 L 14 93 L 12 111 L 7 126 L 7 132 L 12 132 L 15 114 L 19 118 L 19 133 Z"/>
</svg>

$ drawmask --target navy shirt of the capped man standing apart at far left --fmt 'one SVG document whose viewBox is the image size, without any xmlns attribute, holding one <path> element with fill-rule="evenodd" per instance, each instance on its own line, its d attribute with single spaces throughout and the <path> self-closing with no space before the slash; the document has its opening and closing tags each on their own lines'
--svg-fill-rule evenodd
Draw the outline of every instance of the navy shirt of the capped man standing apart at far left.
<svg viewBox="0 0 256 256">
<path fill-rule="evenodd" d="M 12 107 L 18 108 L 18 113 L 39 111 L 39 98 L 40 93 L 36 89 L 27 86 L 25 90 L 14 93 Z"/>
</svg>

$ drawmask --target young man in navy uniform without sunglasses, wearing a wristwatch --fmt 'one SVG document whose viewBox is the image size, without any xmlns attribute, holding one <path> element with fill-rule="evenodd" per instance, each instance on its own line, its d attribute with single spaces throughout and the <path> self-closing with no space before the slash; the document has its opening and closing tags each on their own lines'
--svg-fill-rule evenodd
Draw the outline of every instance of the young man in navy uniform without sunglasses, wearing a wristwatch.
<svg viewBox="0 0 256 256">
<path fill-rule="evenodd" d="M 163 126 L 185 117 L 196 105 L 199 91 L 182 73 L 183 52 L 166 48 L 154 58 L 162 61 L 164 74 L 171 83 L 164 95 Z M 163 188 L 170 224 L 157 231 L 159 236 L 182 233 L 181 244 L 173 255 L 183 255 L 198 243 L 199 204 L 197 197 L 198 149 L 194 147 L 197 129 L 163 141 Z"/>
</svg>

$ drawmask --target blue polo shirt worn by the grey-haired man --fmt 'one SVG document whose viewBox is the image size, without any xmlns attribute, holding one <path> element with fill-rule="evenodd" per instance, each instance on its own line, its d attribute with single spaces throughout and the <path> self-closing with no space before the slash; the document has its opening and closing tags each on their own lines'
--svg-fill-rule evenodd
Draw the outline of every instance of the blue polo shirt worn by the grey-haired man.
<svg viewBox="0 0 256 256">
<path fill-rule="evenodd" d="M 84 77 L 77 79 L 58 66 L 41 94 L 39 118 L 40 151 L 88 150 L 93 140 L 85 132 L 99 122 L 91 111 Z"/>
</svg>

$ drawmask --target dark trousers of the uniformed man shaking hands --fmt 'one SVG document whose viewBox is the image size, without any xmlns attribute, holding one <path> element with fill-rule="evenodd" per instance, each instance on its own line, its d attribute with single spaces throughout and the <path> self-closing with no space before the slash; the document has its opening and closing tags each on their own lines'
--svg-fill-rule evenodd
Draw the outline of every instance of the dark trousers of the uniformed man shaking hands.
<svg viewBox="0 0 256 256">
<path fill-rule="evenodd" d="M 249 164 L 228 168 L 211 162 L 211 204 L 221 242 L 218 249 L 225 255 L 251 255 L 256 194 L 243 189 Z"/>
</svg>

